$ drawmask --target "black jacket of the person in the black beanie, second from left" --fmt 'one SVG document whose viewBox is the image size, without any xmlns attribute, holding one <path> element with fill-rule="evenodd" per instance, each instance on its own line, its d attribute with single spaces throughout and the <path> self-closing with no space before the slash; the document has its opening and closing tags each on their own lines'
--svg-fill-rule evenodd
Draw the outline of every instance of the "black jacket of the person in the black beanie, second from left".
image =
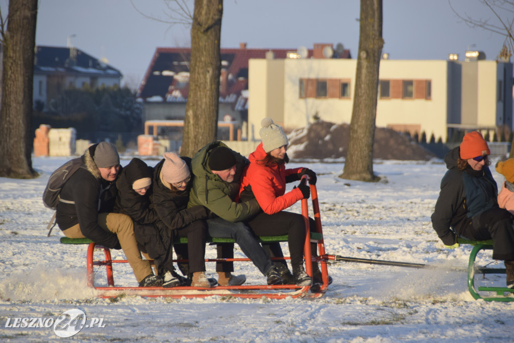
<svg viewBox="0 0 514 343">
<path fill-rule="evenodd" d="M 152 186 L 146 191 L 145 195 L 137 194 L 132 188 L 134 181 L 142 178 L 152 178 L 153 168 L 149 167 L 142 160 L 133 158 L 124 168 L 118 180 L 118 196 L 114 210 L 131 217 L 139 224 L 152 224 L 159 219 L 157 212 L 151 206 L 150 196 Z"/>
</svg>

